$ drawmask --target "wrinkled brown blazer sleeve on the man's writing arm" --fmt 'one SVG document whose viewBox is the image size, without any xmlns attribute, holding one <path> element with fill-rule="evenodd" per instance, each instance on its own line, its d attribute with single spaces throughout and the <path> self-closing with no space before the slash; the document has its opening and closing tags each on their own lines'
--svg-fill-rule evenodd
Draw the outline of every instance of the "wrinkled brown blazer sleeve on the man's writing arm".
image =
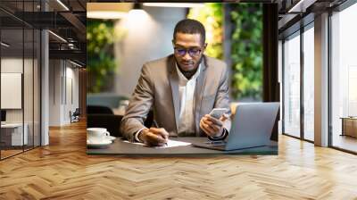
<svg viewBox="0 0 357 200">
<path fill-rule="evenodd" d="M 120 132 L 130 142 L 135 142 L 135 133 L 145 128 L 144 121 L 154 102 L 154 81 L 152 79 L 148 65 L 144 64 L 137 81 L 137 87 L 120 122 Z"/>
</svg>

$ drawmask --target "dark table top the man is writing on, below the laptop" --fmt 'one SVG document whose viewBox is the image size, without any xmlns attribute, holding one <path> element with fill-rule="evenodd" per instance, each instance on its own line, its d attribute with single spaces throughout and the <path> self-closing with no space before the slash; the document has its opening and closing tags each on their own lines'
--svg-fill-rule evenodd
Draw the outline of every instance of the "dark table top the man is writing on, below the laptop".
<svg viewBox="0 0 357 200">
<path fill-rule="evenodd" d="M 173 140 L 200 143 L 207 141 L 207 137 L 176 137 Z M 187 155 L 202 155 L 202 154 L 278 154 L 278 145 L 276 146 L 261 146 L 254 148 L 245 148 L 233 151 L 220 151 L 207 148 L 189 146 L 175 146 L 168 148 L 155 148 L 149 146 L 139 146 L 136 144 L 124 142 L 121 138 L 116 138 L 113 143 L 104 148 L 87 148 L 87 154 L 117 154 L 129 156 L 187 156 Z"/>
</svg>

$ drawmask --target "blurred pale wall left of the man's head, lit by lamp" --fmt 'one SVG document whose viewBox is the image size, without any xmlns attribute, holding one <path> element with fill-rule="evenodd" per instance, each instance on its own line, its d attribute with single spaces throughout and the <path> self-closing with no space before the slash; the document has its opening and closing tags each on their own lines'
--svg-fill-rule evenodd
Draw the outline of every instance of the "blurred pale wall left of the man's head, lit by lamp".
<svg viewBox="0 0 357 200">
<path fill-rule="evenodd" d="M 127 36 L 115 45 L 120 60 L 115 93 L 122 96 L 131 96 L 145 62 L 173 53 L 173 29 L 186 16 L 184 8 L 144 8 L 145 14 L 116 23 L 116 29 L 127 29 Z"/>
</svg>

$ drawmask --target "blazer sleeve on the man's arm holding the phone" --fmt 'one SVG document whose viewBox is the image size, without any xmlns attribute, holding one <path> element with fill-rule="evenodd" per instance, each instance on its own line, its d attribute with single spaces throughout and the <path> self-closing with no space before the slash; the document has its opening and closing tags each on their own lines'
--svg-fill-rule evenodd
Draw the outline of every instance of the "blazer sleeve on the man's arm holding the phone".
<svg viewBox="0 0 357 200">
<path fill-rule="evenodd" d="M 220 86 L 218 87 L 217 91 L 217 96 L 214 102 L 214 108 L 227 108 L 228 112 L 226 114 L 228 115 L 228 119 L 223 122 L 223 127 L 226 129 L 229 133 L 230 131 L 230 126 L 231 126 L 231 120 L 230 120 L 230 101 L 229 101 L 229 87 L 228 87 L 228 67 L 227 64 L 223 65 L 223 71 L 220 76 Z"/>
</svg>

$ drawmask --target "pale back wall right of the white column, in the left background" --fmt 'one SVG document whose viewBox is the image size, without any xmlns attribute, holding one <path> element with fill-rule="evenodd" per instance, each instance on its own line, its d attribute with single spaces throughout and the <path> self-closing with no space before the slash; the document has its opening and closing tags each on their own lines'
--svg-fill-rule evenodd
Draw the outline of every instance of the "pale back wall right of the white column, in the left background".
<svg viewBox="0 0 357 200">
<path fill-rule="evenodd" d="M 70 111 L 79 107 L 79 70 L 64 60 L 50 60 L 49 125 L 71 123 Z M 72 90 L 72 91 L 71 91 Z M 71 95 L 73 101 L 71 101 Z"/>
</svg>

